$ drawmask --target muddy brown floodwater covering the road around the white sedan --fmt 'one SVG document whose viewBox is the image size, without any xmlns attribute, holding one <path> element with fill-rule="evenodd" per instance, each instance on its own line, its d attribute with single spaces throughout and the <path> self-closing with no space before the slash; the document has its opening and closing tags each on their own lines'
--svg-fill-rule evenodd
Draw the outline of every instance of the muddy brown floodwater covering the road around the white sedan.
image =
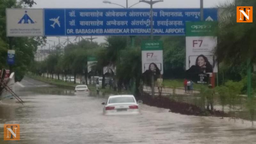
<svg viewBox="0 0 256 144">
<path fill-rule="evenodd" d="M 186 116 L 142 105 L 139 116 L 104 116 L 105 97 L 77 96 L 29 78 L 17 84 L 24 105 L 0 103 L 0 144 L 256 143 L 250 122 Z M 4 141 L 3 125 L 20 124 L 20 141 Z"/>
</svg>

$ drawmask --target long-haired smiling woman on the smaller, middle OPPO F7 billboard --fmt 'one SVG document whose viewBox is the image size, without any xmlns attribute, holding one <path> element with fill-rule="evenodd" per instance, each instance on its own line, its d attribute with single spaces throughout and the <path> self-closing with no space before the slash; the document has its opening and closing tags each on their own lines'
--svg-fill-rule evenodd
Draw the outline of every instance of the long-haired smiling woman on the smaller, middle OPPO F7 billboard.
<svg viewBox="0 0 256 144">
<path fill-rule="evenodd" d="M 155 63 L 150 63 L 148 66 L 148 70 L 146 70 L 142 76 L 143 76 L 143 82 L 150 85 L 151 84 L 151 77 L 152 74 L 154 75 L 154 81 L 157 80 L 157 78 L 161 75 L 160 69 L 157 67 Z"/>
</svg>

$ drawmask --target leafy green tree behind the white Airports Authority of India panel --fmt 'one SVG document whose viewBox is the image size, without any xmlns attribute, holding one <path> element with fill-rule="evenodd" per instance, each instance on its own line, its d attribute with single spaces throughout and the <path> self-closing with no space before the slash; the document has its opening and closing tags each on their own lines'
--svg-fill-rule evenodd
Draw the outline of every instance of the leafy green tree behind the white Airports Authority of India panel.
<svg viewBox="0 0 256 144">
<path fill-rule="evenodd" d="M 15 72 L 15 81 L 21 81 L 31 62 L 34 60 L 34 53 L 37 46 L 43 44 L 44 38 L 39 37 L 6 37 L 6 8 L 21 8 L 22 4 L 34 4 L 32 0 L 20 1 L 16 0 L 0 0 L 0 57 L 1 68 L 10 68 Z M 15 64 L 8 66 L 6 62 L 7 50 L 15 50 Z"/>
</svg>

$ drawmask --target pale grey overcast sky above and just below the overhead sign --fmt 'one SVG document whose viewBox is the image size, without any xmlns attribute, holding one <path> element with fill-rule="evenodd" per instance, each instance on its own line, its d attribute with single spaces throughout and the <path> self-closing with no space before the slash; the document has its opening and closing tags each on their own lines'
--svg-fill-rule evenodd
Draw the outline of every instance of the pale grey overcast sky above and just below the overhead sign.
<svg viewBox="0 0 256 144">
<path fill-rule="evenodd" d="M 121 8 L 114 4 L 105 4 L 103 0 L 34 0 L 36 5 L 32 8 Z M 126 6 L 126 0 L 109 0 L 112 3 Z M 205 8 L 213 8 L 219 4 L 232 0 L 204 0 Z M 139 0 L 128 0 L 128 7 L 139 2 Z M 149 8 L 149 4 L 139 3 L 132 8 Z M 200 0 L 164 0 L 164 2 L 154 4 L 153 8 L 200 8 Z M 89 37 L 89 36 L 84 36 Z M 66 37 L 65 37 L 66 38 Z M 73 41 L 74 37 L 70 37 Z M 47 39 L 58 42 L 56 37 L 48 37 Z M 60 41 L 65 41 L 64 37 Z M 104 42 L 103 36 L 98 36 L 94 41 Z M 52 42 L 49 42 L 52 43 Z"/>
</svg>

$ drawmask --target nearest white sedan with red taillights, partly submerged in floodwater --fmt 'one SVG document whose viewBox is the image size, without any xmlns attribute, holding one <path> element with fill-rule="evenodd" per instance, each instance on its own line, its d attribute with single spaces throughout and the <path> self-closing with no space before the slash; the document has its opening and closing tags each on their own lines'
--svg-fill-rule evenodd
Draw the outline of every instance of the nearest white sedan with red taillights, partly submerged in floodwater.
<svg viewBox="0 0 256 144">
<path fill-rule="evenodd" d="M 126 114 L 140 114 L 141 100 L 136 102 L 133 95 L 115 95 L 109 96 L 107 103 L 103 102 L 104 115 L 126 115 Z"/>
</svg>

